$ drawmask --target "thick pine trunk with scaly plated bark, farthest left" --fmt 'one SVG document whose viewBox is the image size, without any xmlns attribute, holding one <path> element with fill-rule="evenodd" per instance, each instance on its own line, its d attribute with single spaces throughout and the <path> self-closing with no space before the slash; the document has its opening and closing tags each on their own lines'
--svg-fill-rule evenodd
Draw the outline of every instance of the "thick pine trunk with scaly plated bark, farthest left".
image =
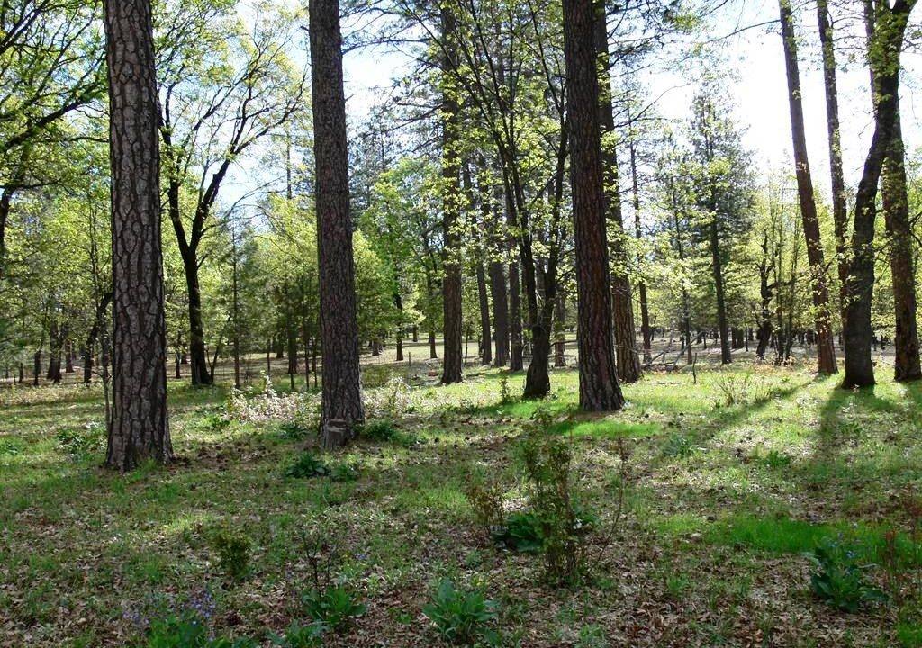
<svg viewBox="0 0 922 648">
<path fill-rule="evenodd" d="M 112 415 L 106 465 L 173 457 L 160 249 L 160 134 L 150 0 L 106 0 L 112 159 Z"/>
</svg>

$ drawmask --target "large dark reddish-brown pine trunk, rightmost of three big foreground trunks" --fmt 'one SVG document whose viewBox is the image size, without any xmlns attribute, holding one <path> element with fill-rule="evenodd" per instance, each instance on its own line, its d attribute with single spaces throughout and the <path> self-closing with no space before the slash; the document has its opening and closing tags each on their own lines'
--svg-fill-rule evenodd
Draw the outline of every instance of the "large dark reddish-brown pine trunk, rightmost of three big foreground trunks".
<svg viewBox="0 0 922 648">
<path fill-rule="evenodd" d="M 609 411 L 621 409 L 624 397 L 612 347 L 594 23 L 592 0 L 563 0 L 578 294 L 579 399 L 585 410 Z"/>
</svg>

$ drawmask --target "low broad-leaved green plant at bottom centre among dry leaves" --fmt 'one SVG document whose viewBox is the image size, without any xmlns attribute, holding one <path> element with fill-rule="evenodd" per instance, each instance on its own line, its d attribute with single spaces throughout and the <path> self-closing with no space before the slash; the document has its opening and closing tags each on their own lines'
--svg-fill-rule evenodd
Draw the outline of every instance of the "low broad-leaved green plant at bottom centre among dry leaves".
<svg viewBox="0 0 922 648">
<path fill-rule="evenodd" d="M 490 624 L 496 620 L 496 603 L 482 590 L 462 590 L 449 579 L 439 582 L 432 602 L 422 608 L 439 634 L 455 643 L 473 643 L 495 637 Z"/>
</svg>

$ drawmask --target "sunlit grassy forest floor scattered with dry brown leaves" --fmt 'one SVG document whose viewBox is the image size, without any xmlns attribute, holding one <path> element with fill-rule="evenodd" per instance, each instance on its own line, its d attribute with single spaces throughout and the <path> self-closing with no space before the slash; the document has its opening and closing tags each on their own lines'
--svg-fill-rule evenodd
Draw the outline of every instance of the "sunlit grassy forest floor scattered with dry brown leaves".
<svg viewBox="0 0 922 648">
<path fill-rule="evenodd" d="M 442 578 L 496 602 L 485 637 L 507 646 L 922 645 L 922 386 L 858 393 L 740 365 L 649 374 L 622 412 L 588 416 L 572 370 L 543 403 L 502 402 L 522 374 L 443 387 L 420 371 L 403 391 L 374 371 L 370 413 L 396 436 L 314 448 L 331 474 L 313 478 L 288 474 L 312 443 L 313 394 L 171 383 L 178 461 L 119 476 L 100 468 L 98 387 L 0 393 L 0 645 L 143 646 L 191 610 L 215 636 L 270 645 L 303 619 L 318 566 L 365 606 L 331 646 L 442 645 L 422 611 Z M 496 545 L 465 494 L 488 476 L 522 506 L 515 448 L 539 409 L 597 516 L 571 589 L 544 582 L 540 555 Z M 238 578 L 221 534 L 249 548 Z M 854 560 L 833 577 L 875 596 L 854 612 L 817 598 L 818 546 L 843 548 Z"/>
</svg>

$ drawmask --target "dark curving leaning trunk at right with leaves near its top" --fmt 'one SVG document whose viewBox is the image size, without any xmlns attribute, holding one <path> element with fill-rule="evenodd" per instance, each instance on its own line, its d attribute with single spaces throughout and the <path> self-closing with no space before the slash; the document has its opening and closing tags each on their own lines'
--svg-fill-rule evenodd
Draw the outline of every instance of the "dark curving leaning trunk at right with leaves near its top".
<svg viewBox="0 0 922 648">
<path fill-rule="evenodd" d="M 874 135 L 855 196 L 851 259 L 845 282 L 845 387 L 875 383 L 871 359 L 871 296 L 874 289 L 874 221 L 883 162 L 893 136 L 900 85 L 900 53 L 909 13 L 916 0 L 896 0 L 877 5 L 877 27 L 869 39 L 871 91 L 876 99 Z"/>
</svg>

